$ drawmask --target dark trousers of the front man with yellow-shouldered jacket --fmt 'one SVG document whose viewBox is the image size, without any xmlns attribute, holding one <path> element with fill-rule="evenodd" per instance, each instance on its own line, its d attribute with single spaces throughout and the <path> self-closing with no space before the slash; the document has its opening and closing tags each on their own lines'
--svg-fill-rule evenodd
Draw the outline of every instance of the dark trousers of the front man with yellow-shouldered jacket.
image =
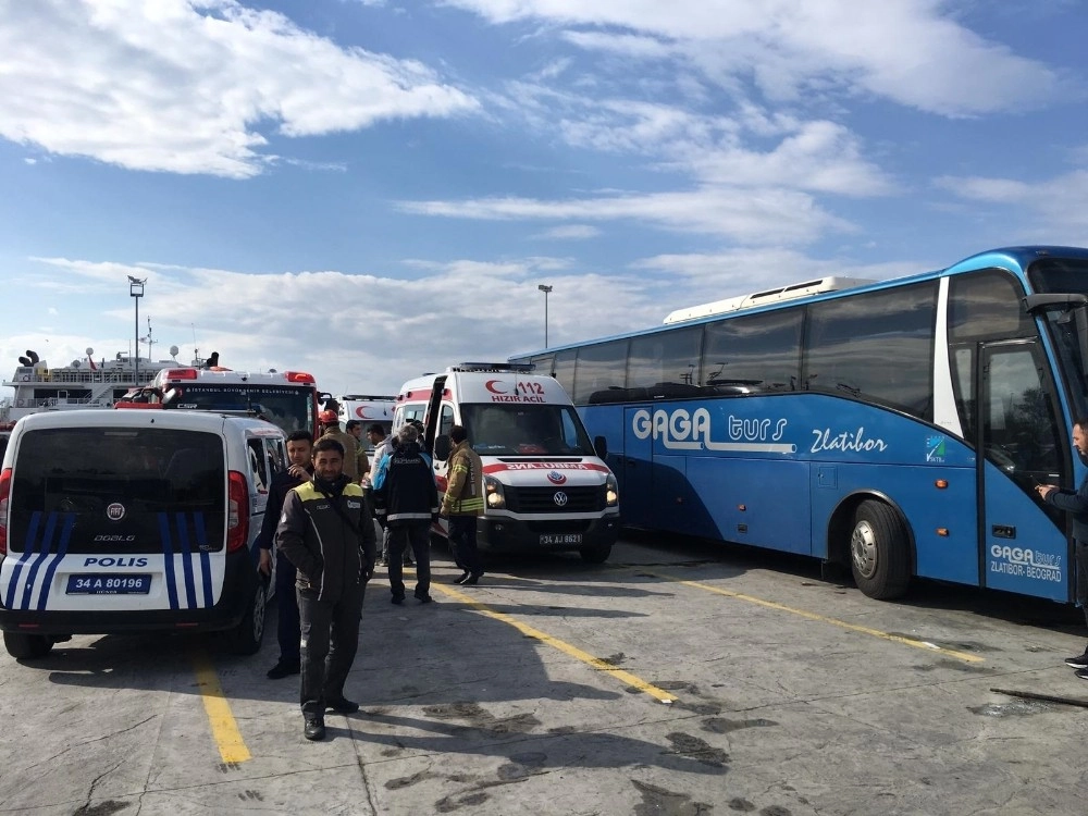
<svg viewBox="0 0 1088 816">
<path fill-rule="evenodd" d="M 325 701 L 344 696 L 347 672 L 359 650 L 359 616 L 367 584 L 345 585 L 339 599 L 318 601 L 316 590 L 296 590 L 301 629 L 299 656 L 304 714 L 324 716 Z"/>
</svg>

